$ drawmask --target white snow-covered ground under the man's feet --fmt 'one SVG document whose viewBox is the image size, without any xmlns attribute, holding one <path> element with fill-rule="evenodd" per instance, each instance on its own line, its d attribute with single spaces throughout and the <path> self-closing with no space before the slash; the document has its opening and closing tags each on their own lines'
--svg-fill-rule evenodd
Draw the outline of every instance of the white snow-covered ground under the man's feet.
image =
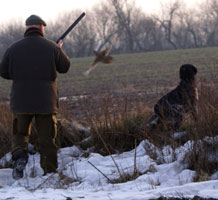
<svg viewBox="0 0 218 200">
<path fill-rule="evenodd" d="M 187 169 L 185 159 L 191 146 L 188 141 L 174 151 L 169 146 L 158 150 L 148 141 L 143 141 L 136 151 L 112 156 L 91 153 L 87 158 L 81 156 L 84 152 L 76 146 L 63 148 L 58 155 L 61 173 L 46 176 L 42 176 L 39 154 L 30 155 L 23 179 L 14 181 L 10 168 L 0 169 L 0 200 L 64 200 L 67 197 L 146 200 L 160 196 L 192 198 L 196 195 L 218 199 L 218 174 L 212 175 L 210 181 L 193 182 L 195 172 Z M 151 151 L 156 155 L 155 159 L 151 158 Z M 0 160 L 0 165 L 10 162 L 9 153 Z M 109 183 L 134 171 L 140 173 L 134 180 Z"/>
</svg>

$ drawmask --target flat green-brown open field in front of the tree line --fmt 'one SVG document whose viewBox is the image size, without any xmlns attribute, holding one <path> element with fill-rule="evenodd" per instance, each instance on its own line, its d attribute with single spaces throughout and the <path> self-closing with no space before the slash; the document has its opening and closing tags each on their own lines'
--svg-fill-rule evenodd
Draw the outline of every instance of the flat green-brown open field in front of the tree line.
<svg viewBox="0 0 218 200">
<path fill-rule="evenodd" d="M 59 74 L 60 96 L 114 94 L 159 94 L 175 87 L 178 70 L 184 63 L 192 63 L 199 77 L 216 80 L 218 47 L 135 54 L 114 55 L 114 63 L 99 64 L 88 77 L 82 73 L 92 64 L 94 57 L 74 58 L 67 74 Z M 11 82 L 0 79 L 1 96 L 9 96 Z"/>
</svg>

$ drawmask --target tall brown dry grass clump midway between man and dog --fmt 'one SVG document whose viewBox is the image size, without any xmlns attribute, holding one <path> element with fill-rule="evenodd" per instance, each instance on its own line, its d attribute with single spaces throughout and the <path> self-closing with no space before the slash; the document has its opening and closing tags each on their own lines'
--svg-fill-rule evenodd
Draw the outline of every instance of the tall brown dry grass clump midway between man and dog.
<svg viewBox="0 0 218 200">
<path fill-rule="evenodd" d="M 95 151 L 103 155 L 133 149 L 142 137 L 142 125 L 148 119 L 146 105 L 132 105 L 127 96 L 112 94 L 89 98 L 81 102 Z M 107 146 L 107 149 L 105 147 Z"/>
</svg>

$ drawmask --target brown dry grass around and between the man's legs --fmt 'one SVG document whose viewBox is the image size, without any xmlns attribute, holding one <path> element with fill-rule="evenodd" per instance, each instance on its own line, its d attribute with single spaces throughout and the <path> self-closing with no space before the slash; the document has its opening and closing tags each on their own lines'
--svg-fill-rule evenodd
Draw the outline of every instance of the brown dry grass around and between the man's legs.
<svg viewBox="0 0 218 200">
<path fill-rule="evenodd" d="M 77 130 L 72 122 L 72 116 L 65 104 L 60 105 L 60 113 L 58 114 L 58 134 L 56 144 L 58 147 L 72 146 L 79 144 L 84 139 L 84 134 Z M 10 110 L 9 102 L 0 102 L 0 158 L 11 151 L 12 145 L 12 129 L 13 114 Z M 69 134 L 70 133 L 70 134 Z M 29 142 L 34 145 L 35 150 L 39 150 L 37 130 L 33 120 L 31 135 Z"/>
</svg>

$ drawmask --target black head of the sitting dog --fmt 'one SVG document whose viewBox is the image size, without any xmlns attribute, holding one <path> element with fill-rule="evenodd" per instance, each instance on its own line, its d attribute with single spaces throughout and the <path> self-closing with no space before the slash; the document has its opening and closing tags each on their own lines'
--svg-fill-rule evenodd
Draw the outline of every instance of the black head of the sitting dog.
<svg viewBox="0 0 218 200">
<path fill-rule="evenodd" d="M 180 67 L 180 78 L 184 81 L 191 81 L 195 79 L 197 68 L 192 64 L 184 64 Z"/>
</svg>

